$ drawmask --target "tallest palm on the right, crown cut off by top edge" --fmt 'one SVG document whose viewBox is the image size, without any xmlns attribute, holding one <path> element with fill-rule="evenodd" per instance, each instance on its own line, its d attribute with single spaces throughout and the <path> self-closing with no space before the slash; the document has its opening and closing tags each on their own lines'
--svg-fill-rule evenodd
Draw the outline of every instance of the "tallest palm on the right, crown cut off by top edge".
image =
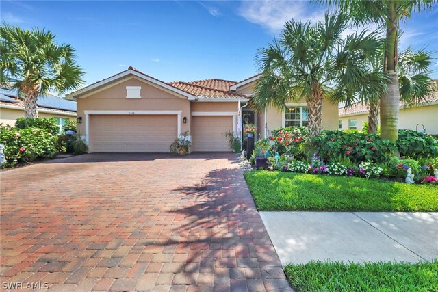
<svg viewBox="0 0 438 292">
<path fill-rule="evenodd" d="M 386 28 L 384 71 L 390 77 L 388 90 L 381 98 L 381 137 L 398 140 L 398 112 L 400 92 L 398 85 L 398 32 L 399 21 L 411 14 L 430 10 L 435 0 L 322 0 L 337 5 L 357 23 L 377 23 Z"/>
</svg>

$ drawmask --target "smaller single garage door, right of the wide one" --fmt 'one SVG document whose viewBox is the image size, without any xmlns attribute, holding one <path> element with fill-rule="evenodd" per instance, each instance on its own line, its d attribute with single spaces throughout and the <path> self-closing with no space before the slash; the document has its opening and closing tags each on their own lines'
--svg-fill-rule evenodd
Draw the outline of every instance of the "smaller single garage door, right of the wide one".
<svg viewBox="0 0 438 292">
<path fill-rule="evenodd" d="M 228 131 L 233 131 L 231 116 L 192 116 L 192 151 L 230 152 Z"/>
</svg>

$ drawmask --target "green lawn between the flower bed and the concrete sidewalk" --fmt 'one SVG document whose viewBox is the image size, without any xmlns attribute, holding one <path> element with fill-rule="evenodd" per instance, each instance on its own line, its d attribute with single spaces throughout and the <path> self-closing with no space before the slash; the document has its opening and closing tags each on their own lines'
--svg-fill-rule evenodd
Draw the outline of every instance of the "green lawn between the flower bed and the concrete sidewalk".
<svg viewBox="0 0 438 292">
<path fill-rule="evenodd" d="M 244 175 L 259 211 L 438 211 L 437 185 L 265 170 Z"/>
</svg>

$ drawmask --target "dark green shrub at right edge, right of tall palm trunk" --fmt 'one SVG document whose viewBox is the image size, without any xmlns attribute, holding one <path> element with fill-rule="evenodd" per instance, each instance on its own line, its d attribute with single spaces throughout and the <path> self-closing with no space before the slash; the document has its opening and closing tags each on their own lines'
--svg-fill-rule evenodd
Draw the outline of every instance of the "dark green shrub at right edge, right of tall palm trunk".
<svg viewBox="0 0 438 292">
<path fill-rule="evenodd" d="M 399 130 L 397 148 L 400 155 L 418 159 L 438 157 L 438 140 L 425 133 L 413 130 Z"/>
</svg>

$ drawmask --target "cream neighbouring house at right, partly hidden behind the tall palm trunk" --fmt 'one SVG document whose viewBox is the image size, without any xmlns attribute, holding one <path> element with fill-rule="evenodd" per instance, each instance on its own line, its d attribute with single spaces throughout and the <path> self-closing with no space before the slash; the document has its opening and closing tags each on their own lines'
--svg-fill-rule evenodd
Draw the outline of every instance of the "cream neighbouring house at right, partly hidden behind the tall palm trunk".
<svg viewBox="0 0 438 292">
<path fill-rule="evenodd" d="M 339 129 L 363 128 L 363 122 L 368 122 L 368 106 L 355 103 L 352 107 L 339 108 Z M 400 114 L 398 117 L 400 129 L 411 129 L 426 133 L 438 134 L 438 92 L 431 94 L 423 103 L 409 106 L 400 102 Z"/>
</svg>

